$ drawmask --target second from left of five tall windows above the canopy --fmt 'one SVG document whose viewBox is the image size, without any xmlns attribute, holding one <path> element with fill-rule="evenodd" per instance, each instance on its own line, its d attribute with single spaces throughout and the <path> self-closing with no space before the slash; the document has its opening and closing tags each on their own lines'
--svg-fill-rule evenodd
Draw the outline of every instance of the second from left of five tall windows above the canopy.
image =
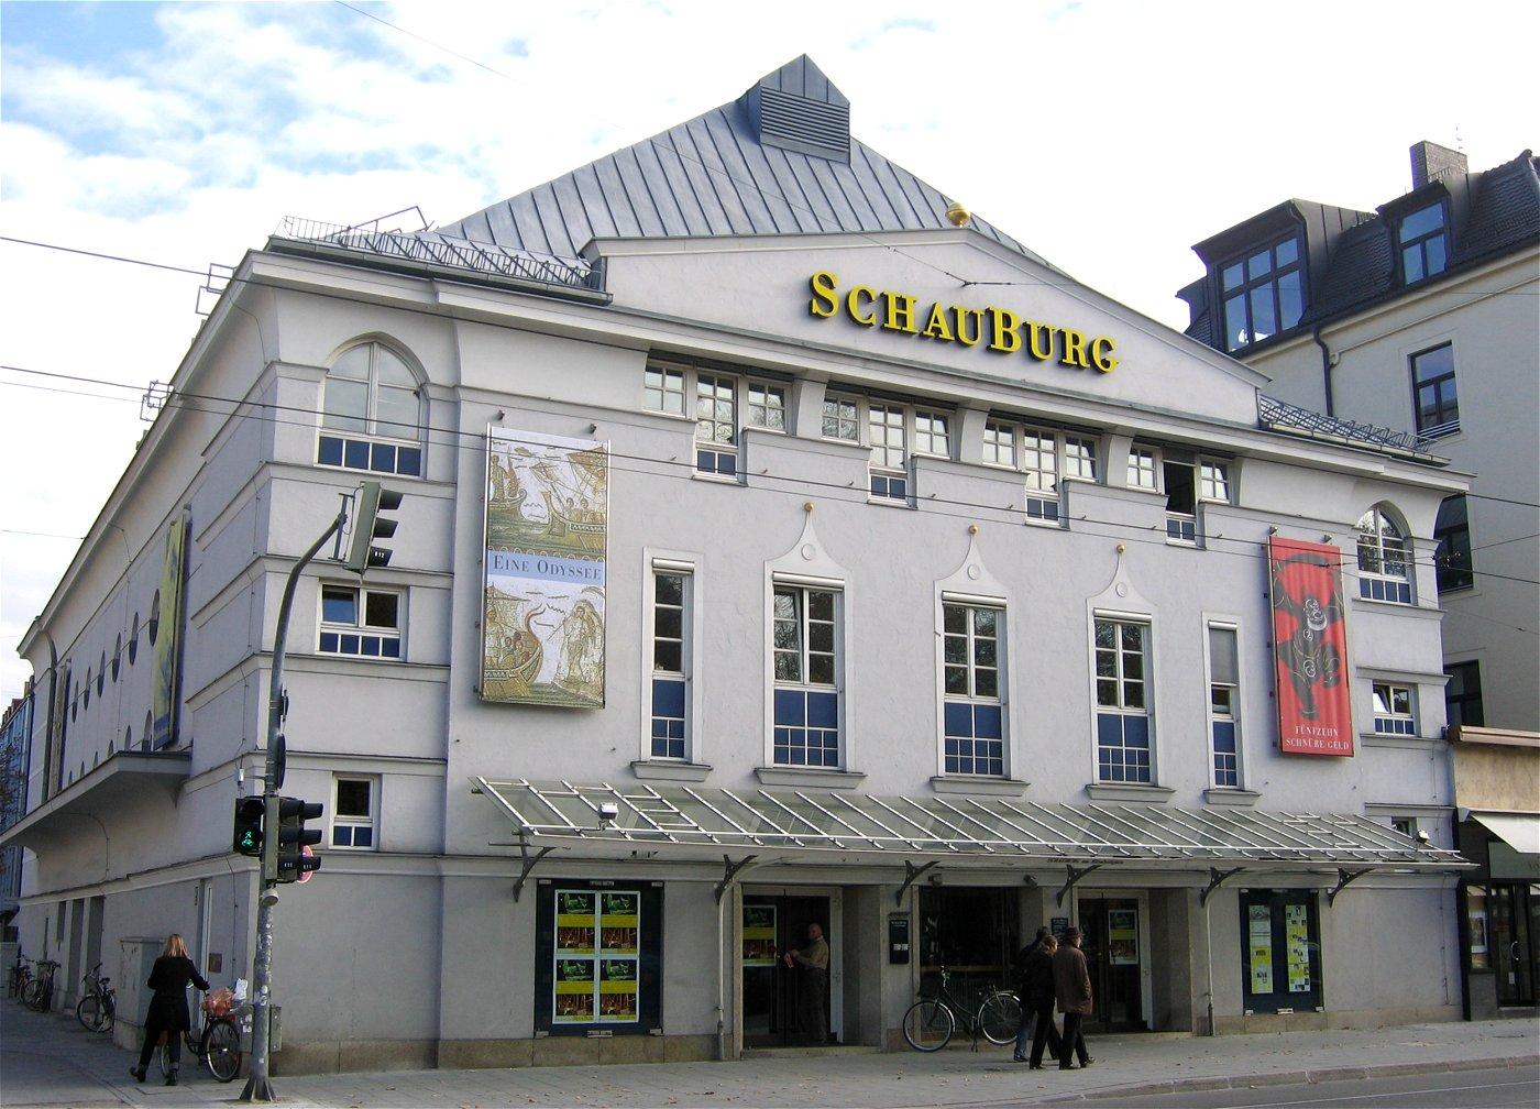
<svg viewBox="0 0 1540 1109">
<path fill-rule="evenodd" d="M 776 766 L 839 766 L 839 593 L 776 585 L 772 611 Z"/>
</svg>

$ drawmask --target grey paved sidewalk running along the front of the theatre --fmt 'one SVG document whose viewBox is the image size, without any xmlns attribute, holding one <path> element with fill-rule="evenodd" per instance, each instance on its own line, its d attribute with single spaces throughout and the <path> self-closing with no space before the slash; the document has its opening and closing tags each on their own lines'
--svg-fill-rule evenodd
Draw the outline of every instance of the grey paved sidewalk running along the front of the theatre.
<svg viewBox="0 0 1540 1109">
<path fill-rule="evenodd" d="M 464 1106 L 964 1106 L 1052 1104 L 1112 1094 L 1334 1081 L 1364 1075 L 1532 1066 L 1540 1024 L 1418 1024 L 1371 1032 L 1289 1032 L 1192 1038 L 1177 1034 L 1096 1037 L 1089 1070 L 1027 1070 L 1009 1047 L 919 1055 L 835 1055 L 738 1063 L 413 1070 L 296 1075 L 274 1084 L 293 1106 L 457 1109 Z M 208 1106 L 229 1103 L 191 1067 L 176 1089 L 137 1086 L 132 1057 L 60 1017 L 0 1001 L 0 1103 L 5 1106 Z"/>
</svg>

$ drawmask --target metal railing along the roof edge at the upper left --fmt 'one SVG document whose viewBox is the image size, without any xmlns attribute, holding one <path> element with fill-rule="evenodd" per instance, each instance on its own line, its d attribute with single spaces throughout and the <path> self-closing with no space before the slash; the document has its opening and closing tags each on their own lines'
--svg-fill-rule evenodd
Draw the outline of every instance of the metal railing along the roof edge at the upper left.
<svg viewBox="0 0 1540 1109">
<path fill-rule="evenodd" d="M 288 216 L 279 225 L 274 239 L 314 243 L 373 257 L 400 259 L 468 274 L 511 277 L 591 293 L 604 291 L 604 270 L 594 262 L 536 251 L 513 251 L 437 231 L 379 231 L 371 225 L 342 226 Z"/>
</svg>

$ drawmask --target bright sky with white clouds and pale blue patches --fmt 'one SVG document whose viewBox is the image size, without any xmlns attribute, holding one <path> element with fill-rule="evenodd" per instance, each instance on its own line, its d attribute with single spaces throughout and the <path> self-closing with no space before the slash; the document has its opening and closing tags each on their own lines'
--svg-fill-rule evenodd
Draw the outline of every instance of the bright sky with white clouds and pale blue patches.
<svg viewBox="0 0 1540 1109">
<path fill-rule="evenodd" d="M 1421 139 L 1478 169 L 1535 146 L 1537 9 L 6 0 L 0 237 L 202 273 L 285 216 L 417 205 L 450 223 L 805 52 L 862 142 L 1180 328 L 1192 243 L 1291 196 L 1372 209 L 1409 189 Z M 208 308 L 202 283 L 0 242 L 6 699 L 31 672 L 17 642 L 148 427 L 137 393 L 171 379 Z"/>
</svg>

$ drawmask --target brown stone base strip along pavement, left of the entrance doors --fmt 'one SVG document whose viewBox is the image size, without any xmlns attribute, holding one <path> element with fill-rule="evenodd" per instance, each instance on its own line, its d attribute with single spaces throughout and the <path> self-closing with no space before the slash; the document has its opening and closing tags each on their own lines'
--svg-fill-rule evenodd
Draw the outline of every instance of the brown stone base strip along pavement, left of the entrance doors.
<svg viewBox="0 0 1540 1109">
<path fill-rule="evenodd" d="M 285 1043 L 273 1074 L 348 1070 L 476 1070 L 605 1063 L 701 1063 L 716 1058 L 716 1037 L 541 1037 L 539 1040 L 342 1040 Z"/>
</svg>

